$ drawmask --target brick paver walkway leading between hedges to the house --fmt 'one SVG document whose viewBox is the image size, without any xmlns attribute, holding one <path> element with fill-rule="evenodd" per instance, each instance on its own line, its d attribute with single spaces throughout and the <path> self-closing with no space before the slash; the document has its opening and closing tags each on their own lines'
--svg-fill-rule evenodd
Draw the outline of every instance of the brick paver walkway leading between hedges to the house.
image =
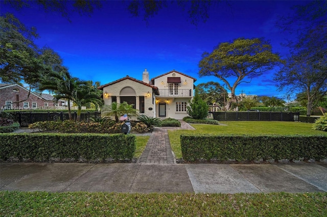
<svg viewBox="0 0 327 217">
<path fill-rule="evenodd" d="M 181 121 L 181 127 L 154 127 L 148 144 L 138 163 L 141 164 L 176 164 L 170 146 L 168 129 L 194 129 L 188 123 Z"/>
</svg>

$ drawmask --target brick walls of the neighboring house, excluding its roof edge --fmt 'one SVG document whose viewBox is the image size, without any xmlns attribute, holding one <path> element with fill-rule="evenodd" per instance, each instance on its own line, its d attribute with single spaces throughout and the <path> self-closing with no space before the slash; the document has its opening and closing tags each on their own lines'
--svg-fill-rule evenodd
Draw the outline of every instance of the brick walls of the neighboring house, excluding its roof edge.
<svg viewBox="0 0 327 217">
<path fill-rule="evenodd" d="M 30 93 L 30 96 L 28 97 L 28 93 L 29 91 L 26 88 L 19 85 L 0 86 L 0 107 L 5 107 L 6 101 L 16 102 L 21 100 L 24 101 L 13 103 L 11 108 L 14 110 L 35 109 L 33 108 L 33 106 L 35 106 L 38 109 L 42 109 L 44 103 L 48 103 L 48 106 L 55 106 L 55 102 L 51 100 L 45 100 L 35 93 Z M 24 108 L 24 104 L 26 108 Z"/>
</svg>

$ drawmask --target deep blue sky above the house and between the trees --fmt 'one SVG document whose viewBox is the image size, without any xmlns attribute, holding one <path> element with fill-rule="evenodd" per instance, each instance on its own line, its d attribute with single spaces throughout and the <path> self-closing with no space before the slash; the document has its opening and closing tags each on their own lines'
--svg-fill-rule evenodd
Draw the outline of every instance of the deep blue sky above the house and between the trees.
<svg viewBox="0 0 327 217">
<path fill-rule="evenodd" d="M 186 11 L 168 3 L 148 22 L 132 17 L 128 2 L 102 1 L 102 8 L 90 16 L 74 13 L 71 22 L 59 13 L 45 13 L 39 6 L 15 11 L 1 3 L 1 13 L 13 13 L 22 23 L 35 26 L 39 47 L 49 46 L 59 53 L 69 72 L 83 80 L 101 85 L 126 75 L 142 80 L 145 68 L 150 78 L 173 69 L 197 78 L 195 85 L 209 81 L 223 83 L 214 76 L 199 77 L 198 63 L 204 51 L 212 52 L 220 42 L 244 37 L 270 40 L 274 52 L 282 57 L 288 50 L 281 46 L 289 38 L 275 27 L 279 16 L 292 13 L 291 7 L 303 1 L 221 2 L 209 11 L 205 23 L 191 24 Z M 236 94 L 285 97 L 266 72 L 250 84 L 238 86 Z M 230 79 L 235 80 L 235 79 Z M 233 82 L 232 82 L 233 83 Z"/>
</svg>

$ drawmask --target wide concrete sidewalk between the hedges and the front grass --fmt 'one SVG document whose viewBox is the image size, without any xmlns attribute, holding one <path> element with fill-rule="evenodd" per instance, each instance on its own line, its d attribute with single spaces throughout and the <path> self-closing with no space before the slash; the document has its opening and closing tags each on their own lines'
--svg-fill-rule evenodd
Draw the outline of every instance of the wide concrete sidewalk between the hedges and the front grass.
<svg viewBox="0 0 327 217">
<path fill-rule="evenodd" d="M 327 164 L 1 163 L 1 191 L 327 192 Z"/>
</svg>

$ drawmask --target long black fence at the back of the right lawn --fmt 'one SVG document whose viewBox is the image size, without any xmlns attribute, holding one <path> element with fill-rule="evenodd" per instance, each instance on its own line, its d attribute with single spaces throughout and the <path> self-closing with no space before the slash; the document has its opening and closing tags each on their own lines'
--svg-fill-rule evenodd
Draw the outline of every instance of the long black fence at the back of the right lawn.
<svg viewBox="0 0 327 217">
<path fill-rule="evenodd" d="M 217 121 L 298 121 L 298 112 L 213 112 Z"/>
</svg>

